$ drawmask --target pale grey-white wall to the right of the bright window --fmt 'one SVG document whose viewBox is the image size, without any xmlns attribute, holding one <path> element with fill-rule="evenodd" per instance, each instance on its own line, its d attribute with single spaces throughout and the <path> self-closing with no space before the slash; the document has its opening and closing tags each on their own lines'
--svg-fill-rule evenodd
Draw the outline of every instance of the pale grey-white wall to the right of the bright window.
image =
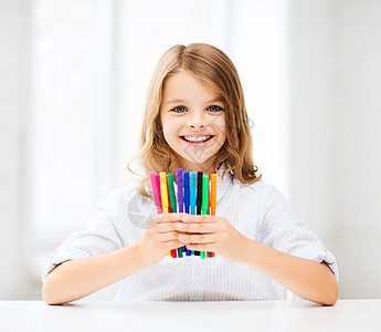
<svg viewBox="0 0 381 332">
<path fill-rule="evenodd" d="M 381 1 L 289 11 L 293 206 L 336 253 L 340 298 L 380 298 Z"/>
</svg>

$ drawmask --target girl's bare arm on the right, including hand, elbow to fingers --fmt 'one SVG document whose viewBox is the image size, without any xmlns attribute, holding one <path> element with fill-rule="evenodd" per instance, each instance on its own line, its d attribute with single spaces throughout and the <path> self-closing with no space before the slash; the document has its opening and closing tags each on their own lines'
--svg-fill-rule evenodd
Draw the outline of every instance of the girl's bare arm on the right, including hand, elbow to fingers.
<svg viewBox="0 0 381 332">
<path fill-rule="evenodd" d="M 326 305 L 336 303 L 338 282 L 326 263 L 252 240 L 222 217 L 189 215 L 182 221 L 177 225 L 183 232 L 179 240 L 188 249 L 214 251 L 226 260 L 245 263 L 306 300 Z"/>
</svg>

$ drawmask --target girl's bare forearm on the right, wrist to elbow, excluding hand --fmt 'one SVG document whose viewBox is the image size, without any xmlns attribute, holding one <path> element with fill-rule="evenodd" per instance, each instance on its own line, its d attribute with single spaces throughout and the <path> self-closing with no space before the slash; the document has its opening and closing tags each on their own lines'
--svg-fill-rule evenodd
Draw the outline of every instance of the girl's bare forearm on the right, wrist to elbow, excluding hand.
<svg viewBox="0 0 381 332">
<path fill-rule="evenodd" d="M 325 262 L 277 251 L 248 238 L 241 241 L 241 262 L 267 276 L 295 294 L 320 304 L 334 305 L 338 282 Z"/>
</svg>

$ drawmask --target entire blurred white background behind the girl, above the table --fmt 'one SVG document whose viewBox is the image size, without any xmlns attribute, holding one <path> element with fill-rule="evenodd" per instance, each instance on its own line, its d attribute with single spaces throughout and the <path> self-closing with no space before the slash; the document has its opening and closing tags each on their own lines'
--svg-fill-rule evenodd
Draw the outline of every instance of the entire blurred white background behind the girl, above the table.
<svg viewBox="0 0 381 332">
<path fill-rule="evenodd" d="M 130 178 L 156 63 L 191 42 L 236 65 L 255 163 L 336 255 L 340 298 L 381 298 L 380 18 L 379 0 L 0 0 L 0 299 L 41 299 L 50 255 Z"/>
</svg>

